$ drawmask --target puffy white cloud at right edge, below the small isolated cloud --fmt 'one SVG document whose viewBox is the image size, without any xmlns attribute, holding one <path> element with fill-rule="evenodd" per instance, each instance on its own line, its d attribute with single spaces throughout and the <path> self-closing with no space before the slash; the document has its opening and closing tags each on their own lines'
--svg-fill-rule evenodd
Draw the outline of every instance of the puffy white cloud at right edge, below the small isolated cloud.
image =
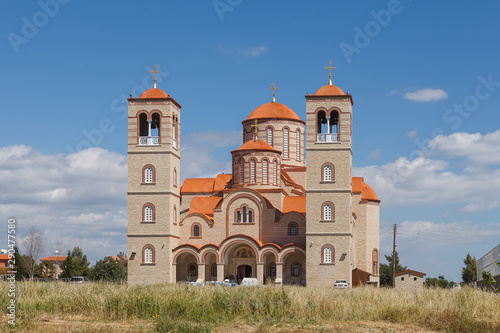
<svg viewBox="0 0 500 333">
<path fill-rule="evenodd" d="M 469 162 L 481 165 L 500 164 L 500 130 L 481 135 L 480 133 L 453 133 L 438 135 L 429 142 L 433 154 L 447 157 L 465 157 Z"/>
</svg>

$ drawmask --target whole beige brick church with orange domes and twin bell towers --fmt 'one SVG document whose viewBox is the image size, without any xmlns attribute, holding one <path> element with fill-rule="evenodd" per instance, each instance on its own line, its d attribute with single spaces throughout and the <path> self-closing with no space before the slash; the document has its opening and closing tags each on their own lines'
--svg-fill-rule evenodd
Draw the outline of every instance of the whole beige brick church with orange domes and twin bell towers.
<svg viewBox="0 0 500 333">
<path fill-rule="evenodd" d="M 332 84 L 334 68 L 305 96 L 305 121 L 273 84 L 272 101 L 242 121 L 232 174 L 182 184 L 181 105 L 156 78 L 128 99 L 130 284 L 378 285 L 380 200 L 352 177 L 353 98 Z"/>
</svg>

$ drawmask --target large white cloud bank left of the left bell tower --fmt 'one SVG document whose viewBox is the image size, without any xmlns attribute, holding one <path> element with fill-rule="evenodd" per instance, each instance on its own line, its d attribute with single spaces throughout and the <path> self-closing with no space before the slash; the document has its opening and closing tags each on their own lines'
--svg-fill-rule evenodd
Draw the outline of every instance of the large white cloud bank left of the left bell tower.
<svg viewBox="0 0 500 333">
<path fill-rule="evenodd" d="M 0 148 L 0 217 L 15 217 L 20 237 L 35 225 L 49 248 L 61 240 L 92 260 L 126 251 L 126 190 L 126 156 L 101 148 L 70 155 Z"/>
</svg>

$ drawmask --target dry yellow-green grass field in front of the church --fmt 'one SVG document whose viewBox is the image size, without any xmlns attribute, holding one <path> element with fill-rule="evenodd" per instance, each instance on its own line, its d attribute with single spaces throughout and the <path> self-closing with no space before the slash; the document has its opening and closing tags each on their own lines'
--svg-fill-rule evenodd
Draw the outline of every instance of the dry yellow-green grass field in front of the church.
<svg viewBox="0 0 500 333">
<path fill-rule="evenodd" d="M 16 293 L 16 325 L 4 307 L 1 332 L 500 332 L 500 298 L 473 288 L 18 282 Z"/>
</svg>

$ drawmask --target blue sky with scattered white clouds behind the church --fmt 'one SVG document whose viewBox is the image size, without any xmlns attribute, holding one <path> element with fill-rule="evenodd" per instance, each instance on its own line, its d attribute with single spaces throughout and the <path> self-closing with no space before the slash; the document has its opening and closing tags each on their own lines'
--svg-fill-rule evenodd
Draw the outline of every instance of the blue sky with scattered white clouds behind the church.
<svg viewBox="0 0 500 333">
<path fill-rule="evenodd" d="M 58 241 L 92 260 L 126 251 L 123 99 L 151 87 L 153 65 L 182 105 L 182 178 L 228 171 L 241 121 L 273 82 L 305 119 L 304 95 L 333 60 L 354 98 L 354 173 L 382 199 L 382 254 L 400 224 L 404 265 L 458 281 L 468 252 L 500 240 L 498 2 L 3 7 L 0 217 L 21 234 L 37 225 L 47 255 Z"/>
</svg>

